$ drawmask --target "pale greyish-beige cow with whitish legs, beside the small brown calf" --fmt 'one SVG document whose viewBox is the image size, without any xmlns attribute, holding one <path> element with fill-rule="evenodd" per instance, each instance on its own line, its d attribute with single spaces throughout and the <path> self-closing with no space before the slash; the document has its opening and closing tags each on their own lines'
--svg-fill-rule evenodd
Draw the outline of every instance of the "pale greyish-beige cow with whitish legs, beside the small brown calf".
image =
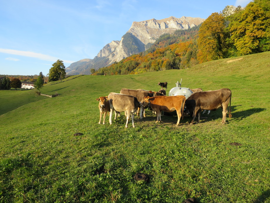
<svg viewBox="0 0 270 203">
<path fill-rule="evenodd" d="M 128 126 L 129 117 L 131 115 L 132 119 L 132 127 L 135 128 L 134 125 L 134 113 L 137 111 L 138 107 L 141 105 L 138 99 L 135 96 L 127 95 L 127 94 L 118 94 L 115 92 L 111 92 L 108 96 L 109 104 L 110 104 L 110 125 L 112 124 L 112 112 L 126 112 L 126 128 Z"/>
</svg>

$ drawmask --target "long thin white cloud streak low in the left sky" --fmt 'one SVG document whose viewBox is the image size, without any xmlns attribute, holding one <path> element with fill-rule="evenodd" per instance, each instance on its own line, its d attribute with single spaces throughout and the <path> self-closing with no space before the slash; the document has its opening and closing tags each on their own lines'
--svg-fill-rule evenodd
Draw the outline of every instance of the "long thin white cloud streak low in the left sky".
<svg viewBox="0 0 270 203">
<path fill-rule="evenodd" d="M 6 54 L 19 55 L 19 56 L 33 57 L 33 58 L 37 58 L 37 59 L 44 60 L 44 61 L 57 61 L 58 60 L 58 58 L 56 58 L 54 56 L 48 56 L 45 54 L 39 54 L 39 53 L 31 52 L 31 51 L 19 51 L 19 50 L 13 50 L 13 49 L 1 49 L 0 48 L 0 52 L 6 53 Z M 67 60 L 63 60 L 63 61 L 66 63 L 73 63 L 74 62 L 74 61 L 67 61 Z"/>
</svg>

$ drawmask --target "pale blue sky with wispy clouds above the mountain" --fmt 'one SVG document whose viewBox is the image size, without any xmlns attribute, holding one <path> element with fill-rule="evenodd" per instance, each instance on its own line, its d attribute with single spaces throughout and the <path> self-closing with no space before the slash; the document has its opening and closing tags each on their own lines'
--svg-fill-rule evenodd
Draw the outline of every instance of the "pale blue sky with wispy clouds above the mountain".
<svg viewBox="0 0 270 203">
<path fill-rule="evenodd" d="M 93 59 L 120 40 L 133 21 L 207 18 L 250 0 L 0 0 L 0 74 L 43 75 L 58 59 L 65 67 Z"/>
</svg>

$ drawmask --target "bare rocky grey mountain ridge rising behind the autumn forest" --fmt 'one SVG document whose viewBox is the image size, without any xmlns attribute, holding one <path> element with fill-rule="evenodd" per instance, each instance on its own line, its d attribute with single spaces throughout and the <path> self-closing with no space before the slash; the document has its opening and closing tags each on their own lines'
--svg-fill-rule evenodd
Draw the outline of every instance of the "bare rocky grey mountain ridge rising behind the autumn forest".
<svg viewBox="0 0 270 203">
<path fill-rule="evenodd" d="M 145 21 L 134 21 L 130 29 L 121 37 L 120 41 L 112 41 L 106 44 L 94 57 L 89 61 L 77 61 L 67 67 L 67 74 L 90 74 L 90 69 L 99 69 L 110 65 L 114 62 L 145 51 L 149 44 L 153 44 L 159 36 L 164 33 L 172 34 L 177 29 L 188 29 L 198 26 L 205 19 L 199 17 L 169 18 L 156 20 L 150 19 Z M 83 59 L 85 60 L 85 59 Z"/>
</svg>

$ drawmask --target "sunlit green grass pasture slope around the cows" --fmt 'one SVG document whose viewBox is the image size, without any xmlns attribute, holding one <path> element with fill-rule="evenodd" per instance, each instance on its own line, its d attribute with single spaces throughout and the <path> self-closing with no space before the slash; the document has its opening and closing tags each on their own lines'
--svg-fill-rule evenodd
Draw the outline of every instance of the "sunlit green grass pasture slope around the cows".
<svg viewBox="0 0 270 203">
<path fill-rule="evenodd" d="M 0 91 L 0 202 L 270 202 L 270 52 L 185 70 L 80 76 L 41 89 Z M 99 125 L 96 98 L 122 88 L 232 90 L 221 109 L 189 125 L 146 111 L 135 128 L 122 114 Z M 83 135 L 74 136 L 75 133 Z M 237 142 L 242 145 L 233 146 Z M 136 173 L 150 181 L 135 181 Z"/>
</svg>

